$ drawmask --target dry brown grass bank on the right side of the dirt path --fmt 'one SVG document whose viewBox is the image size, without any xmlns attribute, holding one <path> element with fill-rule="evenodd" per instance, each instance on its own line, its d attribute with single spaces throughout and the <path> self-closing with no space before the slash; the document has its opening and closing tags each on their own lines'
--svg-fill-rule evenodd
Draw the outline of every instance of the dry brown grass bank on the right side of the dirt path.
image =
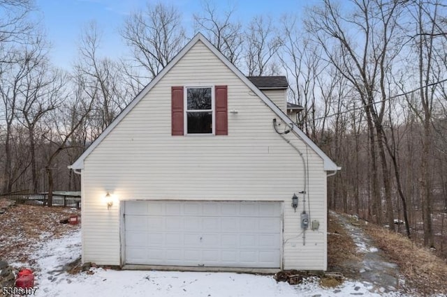
<svg viewBox="0 0 447 297">
<path fill-rule="evenodd" d="M 400 267 L 400 272 L 409 285 L 419 294 L 447 293 L 447 264 L 427 248 L 422 248 L 413 241 L 374 224 L 363 224 L 367 234 L 374 238 L 376 245 Z"/>
</svg>

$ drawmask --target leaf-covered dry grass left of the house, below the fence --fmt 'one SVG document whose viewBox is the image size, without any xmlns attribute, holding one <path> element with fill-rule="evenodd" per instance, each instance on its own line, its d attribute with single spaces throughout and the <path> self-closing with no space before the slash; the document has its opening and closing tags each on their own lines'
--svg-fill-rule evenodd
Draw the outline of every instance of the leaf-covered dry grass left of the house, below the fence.
<svg viewBox="0 0 447 297">
<path fill-rule="evenodd" d="M 0 200 L 0 205 L 5 201 Z M 58 238 L 80 225 L 60 224 L 59 220 L 80 211 L 70 208 L 9 206 L 0 214 L 0 259 L 8 262 L 26 262 L 36 244 Z"/>
</svg>

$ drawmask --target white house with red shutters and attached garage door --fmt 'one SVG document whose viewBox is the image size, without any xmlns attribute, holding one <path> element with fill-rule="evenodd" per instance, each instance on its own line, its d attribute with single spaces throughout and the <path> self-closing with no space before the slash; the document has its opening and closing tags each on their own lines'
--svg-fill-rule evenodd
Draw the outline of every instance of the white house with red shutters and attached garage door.
<svg viewBox="0 0 447 297">
<path fill-rule="evenodd" d="M 196 35 L 70 166 L 82 262 L 324 271 L 326 178 L 339 167 L 286 116 L 287 82 L 272 79 L 245 77 Z"/>
</svg>

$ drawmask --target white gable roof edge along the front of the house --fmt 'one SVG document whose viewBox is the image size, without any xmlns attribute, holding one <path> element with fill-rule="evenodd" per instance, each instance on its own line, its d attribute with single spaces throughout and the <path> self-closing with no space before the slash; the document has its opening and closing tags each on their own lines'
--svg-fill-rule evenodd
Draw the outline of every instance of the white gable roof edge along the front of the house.
<svg viewBox="0 0 447 297">
<path fill-rule="evenodd" d="M 115 118 L 115 120 L 113 120 L 112 123 L 110 123 L 110 125 L 108 125 L 108 127 L 105 128 L 105 130 L 101 133 L 101 135 L 99 135 L 99 137 L 95 139 L 95 141 L 84 151 L 84 153 L 80 155 L 78 160 L 76 160 L 72 165 L 68 166 L 68 168 L 83 169 L 84 160 L 91 153 L 91 151 L 93 151 L 94 148 L 96 148 L 96 146 L 98 146 L 98 144 L 100 144 L 103 141 L 103 139 L 110 133 L 110 131 L 112 131 L 113 128 L 115 128 L 115 126 L 118 125 L 118 123 L 122 121 L 122 119 L 124 119 L 124 116 L 129 114 L 129 112 L 133 109 L 133 107 L 135 107 L 135 105 L 137 105 L 138 102 L 140 102 L 140 100 L 142 100 L 142 98 L 144 98 L 147 95 L 147 93 L 149 93 L 149 91 L 166 75 L 166 73 L 168 73 L 169 70 L 173 68 L 175 64 L 177 64 L 177 62 L 180 59 L 182 59 L 187 52 L 189 52 L 189 50 L 191 50 L 193 45 L 198 43 L 198 41 L 201 41 L 228 68 L 230 68 L 230 70 L 232 70 L 233 73 L 235 73 L 235 75 L 242 80 L 242 82 L 247 84 L 249 89 L 251 89 L 251 91 L 256 93 L 256 95 L 259 98 L 261 98 L 263 102 L 265 102 L 265 105 L 268 105 L 268 107 L 270 107 L 270 109 L 272 109 L 272 111 L 275 114 L 277 114 L 277 116 L 282 121 L 288 123 L 291 126 L 294 134 L 300 137 L 302 141 L 305 142 L 305 144 L 307 144 L 310 148 L 312 148 L 316 152 L 316 154 L 323 159 L 323 168 L 325 171 L 336 171 L 341 169 L 341 167 L 338 167 L 335 164 L 335 162 L 330 160 L 328 155 L 326 155 L 323 151 L 321 151 L 321 148 L 319 148 L 314 142 L 312 142 L 312 140 L 309 139 L 309 137 L 307 137 L 307 135 L 305 135 L 305 133 L 302 132 L 300 128 L 298 128 L 298 126 L 295 125 L 295 123 L 293 123 L 293 121 L 279 107 L 277 107 L 277 105 L 275 105 L 272 102 L 272 100 L 270 100 L 267 96 L 265 96 L 265 94 L 260 89 L 258 89 L 258 87 L 253 82 L 251 82 L 239 69 L 237 69 L 236 66 L 233 65 L 233 63 L 228 61 L 226 56 L 223 56 L 223 54 L 219 52 L 219 50 L 217 50 L 217 48 L 214 47 L 214 45 L 212 45 L 212 43 L 210 43 L 210 41 L 207 40 L 207 38 L 205 38 L 205 36 L 203 36 L 201 33 L 197 33 L 196 36 L 194 36 L 189 41 L 189 43 L 187 43 L 185 47 L 183 47 L 183 49 L 177 54 L 177 56 L 175 56 L 174 59 L 170 61 L 170 63 L 168 63 L 168 65 L 165 68 L 163 68 L 163 70 L 161 70 L 161 72 L 158 75 L 156 75 L 154 79 L 152 79 L 152 82 L 147 84 L 147 86 L 145 86 L 145 88 L 142 89 L 140 93 L 138 93 L 138 95 L 131 101 L 131 103 L 129 103 L 129 105 L 127 105 L 126 108 L 123 109 L 123 111 Z"/>
</svg>

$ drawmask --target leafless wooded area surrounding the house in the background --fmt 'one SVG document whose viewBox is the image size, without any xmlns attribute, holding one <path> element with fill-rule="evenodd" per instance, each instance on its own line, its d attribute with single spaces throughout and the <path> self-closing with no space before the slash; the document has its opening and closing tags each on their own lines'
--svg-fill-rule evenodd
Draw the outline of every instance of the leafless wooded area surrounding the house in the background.
<svg viewBox="0 0 447 297">
<path fill-rule="evenodd" d="M 322 0 L 300 18 L 247 22 L 207 1 L 193 28 L 175 6 L 148 4 L 120 26 L 128 56 L 101 54 L 91 22 L 70 70 L 50 61 L 36 9 L 0 0 L 2 193 L 79 190 L 67 165 L 200 31 L 245 74 L 287 75 L 298 125 L 343 168 L 328 178 L 330 208 L 447 255 L 444 1 Z"/>
</svg>

